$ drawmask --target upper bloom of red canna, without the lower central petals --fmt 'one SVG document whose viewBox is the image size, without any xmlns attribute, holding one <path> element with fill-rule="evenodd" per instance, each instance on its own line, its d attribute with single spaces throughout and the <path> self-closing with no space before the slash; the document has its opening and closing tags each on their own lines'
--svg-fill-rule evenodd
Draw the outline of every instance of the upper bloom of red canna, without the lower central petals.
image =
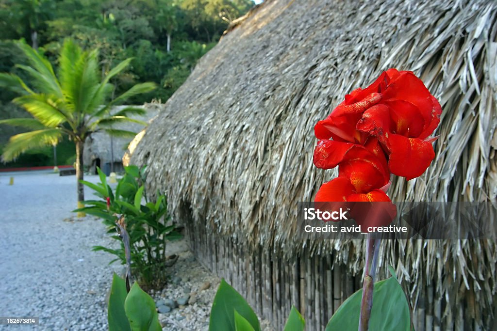
<svg viewBox="0 0 497 331">
<path fill-rule="evenodd" d="M 367 88 L 346 95 L 326 120 L 318 122 L 315 165 L 333 168 L 352 144 L 364 145 L 373 136 L 386 151 L 393 174 L 408 180 L 418 177 L 435 156 L 432 140 L 426 138 L 440 122 L 441 112 L 438 101 L 411 71 L 389 69 Z"/>
</svg>

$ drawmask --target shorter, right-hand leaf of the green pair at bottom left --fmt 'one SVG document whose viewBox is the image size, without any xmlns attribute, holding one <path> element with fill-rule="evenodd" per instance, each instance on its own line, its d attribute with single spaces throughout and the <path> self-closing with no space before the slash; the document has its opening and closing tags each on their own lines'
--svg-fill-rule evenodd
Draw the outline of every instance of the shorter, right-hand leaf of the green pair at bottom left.
<svg viewBox="0 0 497 331">
<path fill-rule="evenodd" d="M 135 282 L 124 302 L 133 331 L 162 331 L 154 300 Z"/>
</svg>

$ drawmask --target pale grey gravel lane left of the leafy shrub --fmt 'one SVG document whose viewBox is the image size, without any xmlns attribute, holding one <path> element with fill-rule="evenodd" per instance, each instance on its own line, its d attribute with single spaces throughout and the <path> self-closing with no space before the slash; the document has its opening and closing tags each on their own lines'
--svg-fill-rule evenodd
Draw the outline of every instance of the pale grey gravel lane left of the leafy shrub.
<svg viewBox="0 0 497 331">
<path fill-rule="evenodd" d="M 120 266 L 91 252 L 111 241 L 99 220 L 70 220 L 75 207 L 75 176 L 0 173 L 0 317 L 40 318 L 39 326 L 16 330 L 107 329 L 105 296 Z"/>
</svg>

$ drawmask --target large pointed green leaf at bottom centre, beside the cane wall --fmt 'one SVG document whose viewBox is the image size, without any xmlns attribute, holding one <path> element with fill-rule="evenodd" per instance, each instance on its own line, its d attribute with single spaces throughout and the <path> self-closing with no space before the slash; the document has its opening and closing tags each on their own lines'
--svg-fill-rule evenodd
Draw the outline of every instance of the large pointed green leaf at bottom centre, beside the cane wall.
<svg viewBox="0 0 497 331">
<path fill-rule="evenodd" d="M 235 310 L 248 321 L 253 330 L 260 331 L 259 320 L 247 301 L 224 279 L 214 297 L 209 320 L 210 331 L 233 331 L 235 326 Z"/>
</svg>

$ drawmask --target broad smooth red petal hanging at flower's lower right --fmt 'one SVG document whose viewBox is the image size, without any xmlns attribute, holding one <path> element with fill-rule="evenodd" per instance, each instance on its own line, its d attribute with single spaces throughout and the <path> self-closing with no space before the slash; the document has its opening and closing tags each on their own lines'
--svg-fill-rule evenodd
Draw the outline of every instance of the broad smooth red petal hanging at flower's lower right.
<svg viewBox="0 0 497 331">
<path fill-rule="evenodd" d="M 390 171 L 397 176 L 406 177 L 408 181 L 421 176 L 435 157 L 431 143 L 419 138 L 391 134 L 387 145 L 390 149 Z"/>
</svg>

